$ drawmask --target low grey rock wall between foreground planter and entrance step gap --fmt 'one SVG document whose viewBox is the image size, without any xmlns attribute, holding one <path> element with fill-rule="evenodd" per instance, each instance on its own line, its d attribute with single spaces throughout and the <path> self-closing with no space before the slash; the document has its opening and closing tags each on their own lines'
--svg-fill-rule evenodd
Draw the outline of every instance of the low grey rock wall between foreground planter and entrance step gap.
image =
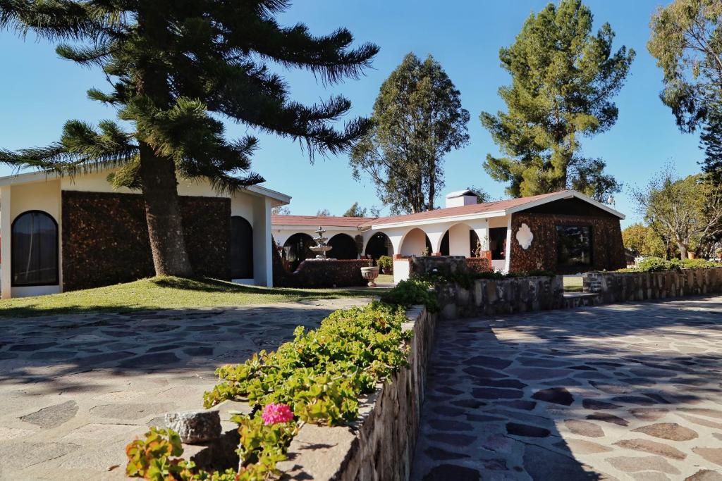
<svg viewBox="0 0 722 481">
<path fill-rule="evenodd" d="M 443 319 L 562 309 L 561 275 L 505 279 L 476 279 L 469 288 L 453 284 L 436 286 Z"/>
</svg>

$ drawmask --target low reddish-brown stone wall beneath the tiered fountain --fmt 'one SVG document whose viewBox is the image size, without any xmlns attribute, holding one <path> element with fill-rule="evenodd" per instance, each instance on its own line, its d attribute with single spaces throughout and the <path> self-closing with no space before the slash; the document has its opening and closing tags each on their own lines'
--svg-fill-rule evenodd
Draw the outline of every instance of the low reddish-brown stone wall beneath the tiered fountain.
<svg viewBox="0 0 722 481">
<path fill-rule="evenodd" d="M 276 243 L 274 242 L 274 247 Z M 304 260 L 294 272 L 290 272 L 278 250 L 273 249 L 273 279 L 277 287 L 353 287 L 365 286 L 361 268 L 369 265 L 368 260 Z"/>
</svg>

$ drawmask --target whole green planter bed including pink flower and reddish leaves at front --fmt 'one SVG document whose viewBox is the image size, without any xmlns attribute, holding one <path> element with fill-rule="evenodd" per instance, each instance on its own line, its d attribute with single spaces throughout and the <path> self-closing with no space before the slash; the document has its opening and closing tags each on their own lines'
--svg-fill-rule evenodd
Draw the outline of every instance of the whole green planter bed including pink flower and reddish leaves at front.
<svg viewBox="0 0 722 481">
<path fill-rule="evenodd" d="M 408 365 L 411 333 L 401 331 L 405 320 L 403 307 L 378 302 L 336 311 L 316 330 L 297 327 L 294 340 L 276 351 L 261 350 L 243 364 L 217 369 L 222 382 L 204 394 L 204 405 L 246 397 L 253 407 L 251 415 L 232 417 L 240 433 L 240 471 L 197 469 L 179 457 L 176 433 L 151 428 L 144 440 L 128 445 L 126 472 L 157 481 L 262 481 L 278 475 L 276 464 L 286 459 L 300 423 L 355 420 L 360 395 Z"/>
</svg>

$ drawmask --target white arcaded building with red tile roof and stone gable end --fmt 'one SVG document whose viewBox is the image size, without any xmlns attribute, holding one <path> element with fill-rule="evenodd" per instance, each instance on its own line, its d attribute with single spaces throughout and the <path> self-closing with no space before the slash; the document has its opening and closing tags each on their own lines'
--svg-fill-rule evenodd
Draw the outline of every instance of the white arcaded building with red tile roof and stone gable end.
<svg viewBox="0 0 722 481">
<path fill-rule="evenodd" d="M 329 257 L 341 259 L 486 255 L 493 269 L 504 272 L 579 271 L 619 263 L 619 220 L 625 216 L 574 190 L 488 203 L 477 203 L 475 193 L 460 190 L 445 200 L 445 208 L 378 219 L 273 216 L 272 231 L 282 255 L 296 262 L 310 257 L 305 247 L 313 245 L 313 231 L 323 226 L 334 247 Z M 609 249 L 604 248 L 606 237 Z M 567 245 L 569 239 L 578 245 Z"/>
</svg>

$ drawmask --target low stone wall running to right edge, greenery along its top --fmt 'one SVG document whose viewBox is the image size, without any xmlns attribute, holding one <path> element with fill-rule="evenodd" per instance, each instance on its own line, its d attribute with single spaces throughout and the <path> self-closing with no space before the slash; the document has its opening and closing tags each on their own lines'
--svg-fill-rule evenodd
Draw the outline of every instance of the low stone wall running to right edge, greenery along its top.
<svg viewBox="0 0 722 481">
<path fill-rule="evenodd" d="M 722 292 L 722 268 L 589 272 L 583 276 L 583 289 L 599 294 L 599 304 L 713 294 Z"/>
</svg>

